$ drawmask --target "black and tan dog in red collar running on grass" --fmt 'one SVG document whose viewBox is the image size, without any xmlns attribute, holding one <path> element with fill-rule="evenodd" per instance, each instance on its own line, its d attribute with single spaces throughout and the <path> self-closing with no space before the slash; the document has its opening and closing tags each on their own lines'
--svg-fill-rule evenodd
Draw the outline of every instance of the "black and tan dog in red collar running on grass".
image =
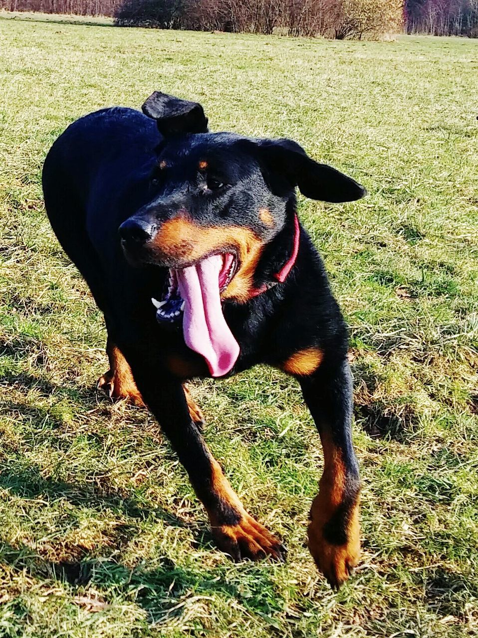
<svg viewBox="0 0 478 638">
<path fill-rule="evenodd" d="M 327 202 L 365 191 L 291 140 L 207 125 L 201 105 L 162 93 L 143 113 L 79 119 L 45 160 L 49 219 L 105 315 L 110 369 L 99 385 L 150 408 L 236 560 L 284 548 L 231 489 L 183 384 L 256 364 L 297 378 L 325 457 L 309 548 L 339 586 L 360 551 L 348 336 L 295 187 Z"/>
</svg>

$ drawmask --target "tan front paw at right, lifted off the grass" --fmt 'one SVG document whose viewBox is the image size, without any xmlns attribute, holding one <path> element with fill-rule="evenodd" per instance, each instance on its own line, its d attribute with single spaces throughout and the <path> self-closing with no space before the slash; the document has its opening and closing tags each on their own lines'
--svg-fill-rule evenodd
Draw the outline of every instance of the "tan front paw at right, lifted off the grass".
<svg viewBox="0 0 478 638">
<path fill-rule="evenodd" d="M 314 501 L 316 505 L 316 501 Z M 323 517 L 314 516 L 314 505 L 311 510 L 311 523 L 307 529 L 309 537 L 309 550 L 318 569 L 327 579 L 332 588 L 338 590 L 341 584 L 348 579 L 360 558 L 360 528 L 358 510 L 350 513 L 348 526 L 344 530 L 342 544 L 335 544 L 325 538 L 325 522 Z"/>
</svg>

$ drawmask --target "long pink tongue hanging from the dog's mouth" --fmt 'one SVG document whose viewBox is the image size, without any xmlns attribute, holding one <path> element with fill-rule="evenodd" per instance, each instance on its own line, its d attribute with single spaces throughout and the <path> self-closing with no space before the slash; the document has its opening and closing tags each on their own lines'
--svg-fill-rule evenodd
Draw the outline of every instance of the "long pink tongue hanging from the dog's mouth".
<svg viewBox="0 0 478 638">
<path fill-rule="evenodd" d="M 222 315 L 219 273 L 222 256 L 213 255 L 176 271 L 185 301 L 183 334 L 186 345 L 203 355 L 212 376 L 226 375 L 239 356 L 239 344 Z"/>
</svg>

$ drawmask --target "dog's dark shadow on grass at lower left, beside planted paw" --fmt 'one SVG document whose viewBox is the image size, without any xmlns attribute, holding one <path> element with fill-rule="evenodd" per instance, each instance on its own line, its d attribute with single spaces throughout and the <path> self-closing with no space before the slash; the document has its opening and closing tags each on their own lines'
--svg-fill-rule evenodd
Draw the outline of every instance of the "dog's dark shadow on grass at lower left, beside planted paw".
<svg viewBox="0 0 478 638">
<path fill-rule="evenodd" d="M 42 550 L 35 548 L 35 545 L 30 547 L 25 542 L 9 538 L 5 531 L 0 533 L 0 565 L 8 565 L 13 571 L 26 574 L 47 587 L 61 582 L 68 586 L 75 600 L 86 602 L 89 600 L 90 589 L 95 592 L 95 597 L 98 593 L 101 597 L 104 591 L 102 605 L 109 604 L 111 590 L 115 591 L 115 600 L 123 595 L 131 600 L 133 592 L 135 604 L 147 612 L 151 623 L 161 623 L 171 616 L 180 616 L 187 609 L 187 604 L 184 603 L 190 592 L 194 592 L 194 596 L 201 595 L 202 592 L 206 597 L 219 593 L 221 597 L 251 606 L 250 597 L 244 597 L 242 590 L 230 581 L 230 567 L 226 561 L 220 561 L 219 565 L 210 568 L 204 567 L 198 557 L 197 564 L 187 568 L 176 564 L 169 556 L 157 556 L 157 567 L 151 569 L 145 560 L 140 560 L 135 567 L 129 567 L 111 558 L 112 554 L 121 551 L 121 547 L 134 539 L 137 519 L 153 516 L 169 527 L 186 526 L 180 518 L 163 508 L 145 507 L 134 498 L 123 498 L 118 494 L 98 494 L 86 485 L 45 479 L 35 466 L 22 471 L 4 471 L 0 475 L 0 489 L 28 500 L 41 497 L 42 500 L 54 501 L 61 498 L 72 505 L 88 505 L 98 511 L 109 507 L 119 517 L 122 518 L 123 514 L 133 519 L 129 525 L 116 526 L 108 546 L 105 547 L 107 551 L 79 551 L 77 560 L 49 560 L 42 556 Z M 197 530 L 194 533 L 192 549 L 197 547 L 213 551 L 210 532 Z M 257 590 L 256 598 L 259 600 L 261 591 L 270 591 L 274 584 L 261 565 L 249 563 L 248 576 L 251 575 L 251 570 L 254 572 L 251 587 Z M 178 602 L 181 604 L 178 605 Z M 262 605 L 263 602 L 259 601 L 258 604 Z"/>
</svg>

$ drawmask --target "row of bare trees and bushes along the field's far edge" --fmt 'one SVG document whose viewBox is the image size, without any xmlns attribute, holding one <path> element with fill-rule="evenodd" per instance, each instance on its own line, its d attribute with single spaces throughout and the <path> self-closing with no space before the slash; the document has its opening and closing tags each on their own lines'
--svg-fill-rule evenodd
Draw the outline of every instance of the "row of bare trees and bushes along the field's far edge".
<svg viewBox="0 0 478 638">
<path fill-rule="evenodd" d="M 291 36 L 478 37 L 478 0 L 0 0 L 0 9 L 105 15 L 118 26 Z"/>
</svg>

